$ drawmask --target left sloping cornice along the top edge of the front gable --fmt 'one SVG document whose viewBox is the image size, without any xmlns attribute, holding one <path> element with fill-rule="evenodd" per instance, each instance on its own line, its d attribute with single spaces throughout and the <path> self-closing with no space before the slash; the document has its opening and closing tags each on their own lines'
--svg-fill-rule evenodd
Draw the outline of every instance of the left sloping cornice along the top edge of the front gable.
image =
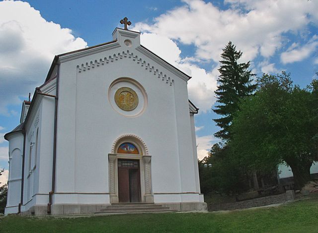
<svg viewBox="0 0 318 233">
<path fill-rule="evenodd" d="M 118 42 L 113 42 L 104 46 L 98 46 L 95 48 L 89 48 L 87 50 L 83 50 L 83 51 L 79 51 L 76 53 L 70 53 L 70 54 L 65 54 L 65 55 L 61 55 L 59 56 L 59 61 L 61 63 L 69 61 L 69 60 L 74 60 L 77 58 L 82 58 L 82 57 L 86 57 L 89 55 L 93 55 L 93 54 L 97 54 L 103 51 L 107 51 L 107 50 L 112 50 L 115 48 L 120 47 L 120 44 Z"/>
</svg>

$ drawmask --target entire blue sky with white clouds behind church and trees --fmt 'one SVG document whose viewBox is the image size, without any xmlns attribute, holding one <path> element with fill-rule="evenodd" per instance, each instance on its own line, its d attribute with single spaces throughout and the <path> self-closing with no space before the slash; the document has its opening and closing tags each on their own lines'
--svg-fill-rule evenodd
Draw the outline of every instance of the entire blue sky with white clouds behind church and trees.
<svg viewBox="0 0 318 233">
<path fill-rule="evenodd" d="M 111 41 L 124 17 L 146 48 L 192 76 L 202 159 L 217 142 L 211 108 L 222 48 L 231 40 L 257 76 L 285 70 L 305 87 L 318 72 L 317 12 L 316 0 L 0 1 L 0 168 L 8 169 L 3 135 L 19 123 L 22 101 L 44 82 L 54 55 Z"/>
</svg>

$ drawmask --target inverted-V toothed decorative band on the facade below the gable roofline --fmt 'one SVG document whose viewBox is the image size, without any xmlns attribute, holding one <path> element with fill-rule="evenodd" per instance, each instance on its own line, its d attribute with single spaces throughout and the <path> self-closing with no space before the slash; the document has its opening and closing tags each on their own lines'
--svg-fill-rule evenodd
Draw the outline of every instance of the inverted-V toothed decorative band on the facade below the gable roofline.
<svg viewBox="0 0 318 233">
<path fill-rule="evenodd" d="M 99 60 L 89 61 L 85 64 L 77 65 L 78 72 L 84 72 L 90 69 L 93 69 L 95 67 L 99 67 L 101 65 L 108 64 L 110 62 L 115 62 L 119 59 L 123 58 L 130 58 L 134 61 L 136 61 L 137 64 L 140 64 L 142 67 L 144 67 L 146 70 L 149 70 L 149 72 L 153 72 L 154 75 L 156 75 L 158 78 L 160 78 L 162 81 L 165 81 L 165 83 L 169 83 L 169 85 L 172 85 L 173 79 L 171 79 L 169 76 L 164 74 L 163 72 L 159 71 L 159 69 L 152 66 L 150 63 L 148 63 L 146 60 L 143 60 L 143 58 L 138 58 L 138 56 L 134 56 L 133 53 L 130 53 L 129 50 L 126 52 L 123 51 L 122 53 L 114 54 L 112 56 L 100 58 Z"/>
</svg>

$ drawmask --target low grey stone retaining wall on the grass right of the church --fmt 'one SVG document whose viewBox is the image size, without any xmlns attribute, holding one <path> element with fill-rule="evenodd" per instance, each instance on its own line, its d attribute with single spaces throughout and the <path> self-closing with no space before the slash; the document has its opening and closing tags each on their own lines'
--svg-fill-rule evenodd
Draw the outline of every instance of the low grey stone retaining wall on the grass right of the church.
<svg viewBox="0 0 318 233">
<path fill-rule="evenodd" d="M 252 200 L 246 200 L 246 201 L 239 201 L 239 202 L 233 202 L 233 203 L 227 203 L 227 204 L 209 205 L 208 211 L 246 209 L 251 207 L 277 204 L 277 203 L 282 203 L 286 201 L 287 201 L 286 193 L 283 193 L 283 194 L 279 194 L 275 196 L 260 197 L 260 198 L 255 198 Z"/>
</svg>

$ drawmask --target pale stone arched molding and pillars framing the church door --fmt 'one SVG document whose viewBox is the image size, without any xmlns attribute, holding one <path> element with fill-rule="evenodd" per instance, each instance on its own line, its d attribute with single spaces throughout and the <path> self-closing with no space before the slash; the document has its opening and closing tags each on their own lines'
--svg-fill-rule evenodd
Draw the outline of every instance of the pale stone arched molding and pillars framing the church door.
<svg viewBox="0 0 318 233">
<path fill-rule="evenodd" d="M 139 154 L 117 153 L 118 147 L 123 143 L 132 143 Z M 151 156 L 148 154 L 146 143 L 135 134 L 123 134 L 113 143 L 111 153 L 108 154 L 109 193 L 110 203 L 119 203 L 118 198 L 118 159 L 139 160 L 140 164 L 140 191 L 141 202 L 153 203 L 151 181 Z"/>
</svg>

